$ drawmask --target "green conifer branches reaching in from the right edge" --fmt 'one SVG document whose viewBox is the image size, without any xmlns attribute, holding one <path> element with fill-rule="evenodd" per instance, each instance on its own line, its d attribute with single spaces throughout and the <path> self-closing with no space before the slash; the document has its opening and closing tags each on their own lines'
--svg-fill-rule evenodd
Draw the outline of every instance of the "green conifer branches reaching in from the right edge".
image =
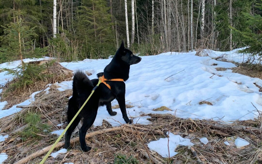
<svg viewBox="0 0 262 164">
<path fill-rule="evenodd" d="M 262 3 L 257 3 L 256 8 L 262 10 Z M 241 40 L 242 43 L 248 46 L 246 49 L 239 52 L 262 56 L 262 17 L 258 14 L 251 15 L 249 13 L 243 13 L 243 16 L 248 28 L 245 30 L 238 30 L 230 27 L 233 30 L 233 34 L 236 36 L 236 40 Z"/>
</svg>

